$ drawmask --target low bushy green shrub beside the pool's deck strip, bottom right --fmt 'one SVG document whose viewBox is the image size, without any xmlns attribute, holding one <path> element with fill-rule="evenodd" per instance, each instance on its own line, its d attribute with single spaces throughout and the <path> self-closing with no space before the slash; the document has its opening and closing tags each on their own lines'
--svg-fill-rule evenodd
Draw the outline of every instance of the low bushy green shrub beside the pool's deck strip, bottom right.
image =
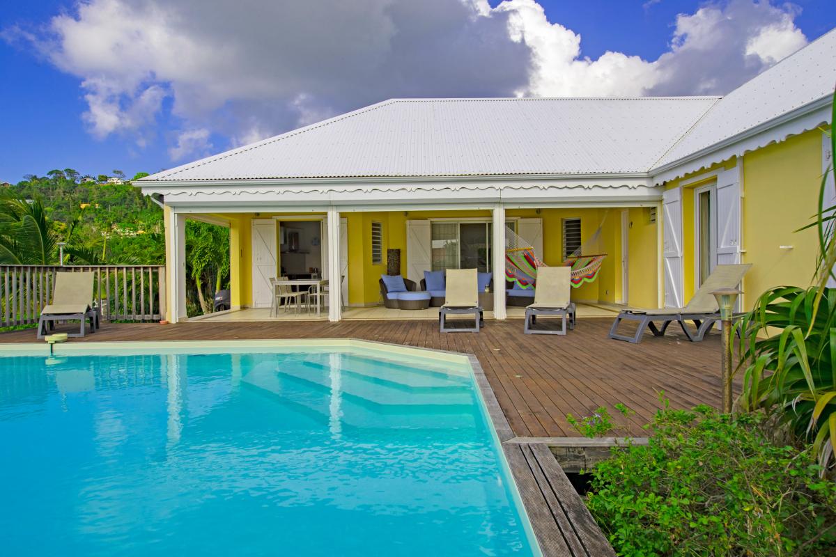
<svg viewBox="0 0 836 557">
<path fill-rule="evenodd" d="M 615 449 L 587 506 L 619 554 L 836 552 L 836 484 L 810 451 L 779 447 L 762 413 L 660 410 L 650 443 Z"/>
</svg>

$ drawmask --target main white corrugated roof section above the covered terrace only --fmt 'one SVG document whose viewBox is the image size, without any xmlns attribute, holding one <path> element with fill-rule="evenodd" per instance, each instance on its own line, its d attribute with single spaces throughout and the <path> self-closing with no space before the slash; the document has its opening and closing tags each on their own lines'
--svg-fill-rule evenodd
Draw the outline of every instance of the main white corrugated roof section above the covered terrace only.
<svg viewBox="0 0 836 557">
<path fill-rule="evenodd" d="M 716 100 L 392 99 L 140 181 L 642 173 Z"/>
</svg>

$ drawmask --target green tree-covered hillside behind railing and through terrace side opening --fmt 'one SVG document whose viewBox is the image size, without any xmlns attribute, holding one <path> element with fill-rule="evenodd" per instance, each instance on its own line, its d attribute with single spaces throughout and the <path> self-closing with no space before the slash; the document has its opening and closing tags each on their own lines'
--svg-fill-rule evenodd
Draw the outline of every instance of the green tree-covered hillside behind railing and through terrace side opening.
<svg viewBox="0 0 836 557">
<path fill-rule="evenodd" d="M 147 173 L 139 173 L 139 180 Z M 0 265 L 165 265 L 163 211 L 124 173 L 80 175 L 74 169 L 26 175 L 0 187 Z M 189 315 L 212 311 L 229 281 L 229 234 L 186 225 Z"/>
</svg>

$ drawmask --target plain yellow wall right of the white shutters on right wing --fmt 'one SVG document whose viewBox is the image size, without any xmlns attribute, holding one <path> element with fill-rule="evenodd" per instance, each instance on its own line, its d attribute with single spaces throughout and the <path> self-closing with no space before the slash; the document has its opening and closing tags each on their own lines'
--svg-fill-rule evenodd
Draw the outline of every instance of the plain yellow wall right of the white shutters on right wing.
<svg viewBox="0 0 836 557">
<path fill-rule="evenodd" d="M 772 286 L 809 286 L 818 240 L 812 222 L 822 179 L 822 132 L 809 131 L 743 156 L 746 309 Z M 793 246 L 792 250 L 780 246 Z"/>
</svg>

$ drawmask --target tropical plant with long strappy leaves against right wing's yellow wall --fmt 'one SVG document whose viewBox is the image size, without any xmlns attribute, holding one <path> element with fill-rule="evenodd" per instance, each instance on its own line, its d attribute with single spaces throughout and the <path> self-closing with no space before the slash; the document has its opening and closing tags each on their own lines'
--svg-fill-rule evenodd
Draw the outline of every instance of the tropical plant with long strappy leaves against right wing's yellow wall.
<svg viewBox="0 0 836 557">
<path fill-rule="evenodd" d="M 836 99 L 836 95 L 834 95 Z M 836 103 L 833 105 L 836 121 Z M 833 153 L 836 137 L 831 133 Z M 818 195 L 818 214 L 807 229 L 818 231 L 819 255 L 813 286 L 778 286 L 757 299 L 737 323 L 743 392 L 738 407 L 762 410 L 795 436 L 813 443 L 823 469 L 836 448 L 836 205 L 825 206 L 828 175 Z"/>
</svg>

